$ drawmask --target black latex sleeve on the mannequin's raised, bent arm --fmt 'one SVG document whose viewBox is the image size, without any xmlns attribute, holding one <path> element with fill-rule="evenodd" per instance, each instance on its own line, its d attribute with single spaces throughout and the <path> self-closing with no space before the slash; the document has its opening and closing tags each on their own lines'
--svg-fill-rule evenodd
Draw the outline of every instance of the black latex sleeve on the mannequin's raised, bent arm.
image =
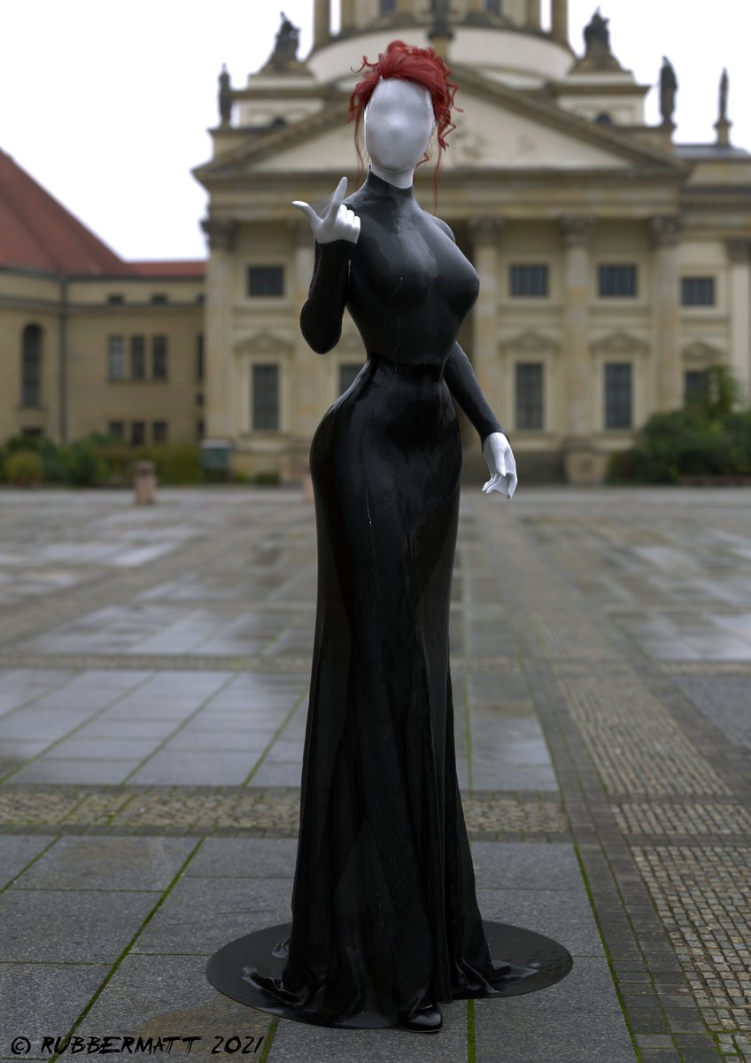
<svg viewBox="0 0 751 1063">
<path fill-rule="evenodd" d="M 351 240 L 315 242 L 313 275 L 308 299 L 300 315 L 300 327 L 317 354 L 326 354 L 339 342 L 349 283 L 349 258 L 356 244 Z"/>
</svg>

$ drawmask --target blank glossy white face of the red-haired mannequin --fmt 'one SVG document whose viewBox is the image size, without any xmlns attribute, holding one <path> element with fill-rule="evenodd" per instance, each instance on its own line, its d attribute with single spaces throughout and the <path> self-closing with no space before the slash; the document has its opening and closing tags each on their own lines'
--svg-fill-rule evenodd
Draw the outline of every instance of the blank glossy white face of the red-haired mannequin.
<svg viewBox="0 0 751 1063">
<path fill-rule="evenodd" d="M 406 170 L 423 157 L 436 124 L 430 92 L 413 81 L 378 82 L 363 115 L 365 148 L 383 170 Z"/>
</svg>

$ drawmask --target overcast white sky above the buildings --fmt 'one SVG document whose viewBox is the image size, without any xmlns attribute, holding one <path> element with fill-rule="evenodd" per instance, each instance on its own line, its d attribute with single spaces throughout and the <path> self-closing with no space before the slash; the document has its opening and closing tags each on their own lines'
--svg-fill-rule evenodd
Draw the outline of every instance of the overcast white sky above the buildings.
<svg viewBox="0 0 751 1063">
<path fill-rule="evenodd" d="M 2 4 L 0 148 L 124 258 L 205 254 L 206 197 L 190 169 L 210 155 L 217 77 L 261 66 L 279 7 L 310 48 L 313 0 L 33 0 Z M 569 35 L 597 0 L 569 0 Z M 639 82 L 663 54 L 679 81 L 677 139 L 712 140 L 730 71 L 734 144 L 751 149 L 749 0 L 601 0 L 611 43 Z M 549 6 L 544 0 L 544 7 Z M 335 14 L 336 18 L 336 14 Z M 353 55 L 353 62 L 359 55 Z M 658 119 L 656 91 L 647 119 Z M 459 94 L 460 102 L 461 94 Z M 745 104 L 745 105 L 744 105 Z"/>
</svg>

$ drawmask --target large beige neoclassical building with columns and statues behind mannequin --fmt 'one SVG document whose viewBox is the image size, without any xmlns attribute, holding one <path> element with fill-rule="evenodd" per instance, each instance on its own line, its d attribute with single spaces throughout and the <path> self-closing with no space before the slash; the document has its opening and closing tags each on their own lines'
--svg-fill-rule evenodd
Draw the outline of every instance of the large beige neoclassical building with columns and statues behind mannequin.
<svg viewBox="0 0 751 1063">
<path fill-rule="evenodd" d="M 324 200 L 342 174 L 355 187 L 353 67 L 395 37 L 432 44 L 460 85 L 437 213 L 480 275 L 459 339 L 520 470 L 554 475 L 568 455 L 586 478 L 592 455 L 628 445 L 714 364 L 748 394 L 751 155 L 730 142 L 727 81 L 714 137 L 677 144 L 672 69 L 662 122 L 647 125 L 649 86 L 621 66 L 600 16 L 577 53 L 567 0 L 552 0 L 549 31 L 541 0 L 446 7 L 343 0 L 334 35 L 328 0 L 314 0 L 306 58 L 285 21 L 246 85 L 220 79 L 214 156 L 194 173 L 210 198 L 206 431 L 232 442 L 237 468 L 297 477 L 321 416 L 362 365 L 346 316 L 323 357 L 300 334 L 313 246 L 291 201 Z M 432 210 L 432 171 L 417 173 Z M 471 432 L 466 443 L 472 466 Z"/>
</svg>

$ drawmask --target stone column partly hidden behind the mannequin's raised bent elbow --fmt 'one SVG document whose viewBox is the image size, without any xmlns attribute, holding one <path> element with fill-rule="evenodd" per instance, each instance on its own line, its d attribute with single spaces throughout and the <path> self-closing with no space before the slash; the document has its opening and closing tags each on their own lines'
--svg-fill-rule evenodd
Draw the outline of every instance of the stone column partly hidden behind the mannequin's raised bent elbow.
<svg viewBox="0 0 751 1063">
<path fill-rule="evenodd" d="M 300 311 L 308 298 L 310 279 L 313 274 L 313 236 L 310 225 L 304 219 L 293 221 L 292 239 L 294 244 L 293 266 L 293 306 L 292 318 L 294 328 L 294 354 L 292 357 L 289 382 L 290 421 L 289 427 L 293 448 L 303 461 L 307 460 L 307 450 L 313 437 L 315 426 L 325 409 L 321 405 L 321 383 L 325 375 L 326 362 L 320 355 L 311 351 L 300 331 Z M 332 401 L 332 400 L 331 400 Z"/>
</svg>

